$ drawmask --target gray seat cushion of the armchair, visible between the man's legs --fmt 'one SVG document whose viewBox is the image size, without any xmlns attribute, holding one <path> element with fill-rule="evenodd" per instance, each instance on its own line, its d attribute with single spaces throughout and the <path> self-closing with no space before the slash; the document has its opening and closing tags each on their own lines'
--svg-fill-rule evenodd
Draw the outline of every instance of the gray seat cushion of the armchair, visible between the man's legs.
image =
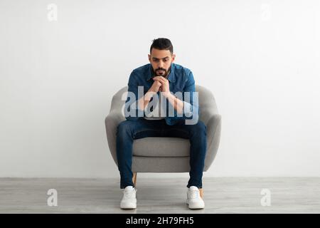
<svg viewBox="0 0 320 228">
<path fill-rule="evenodd" d="M 134 156 L 144 157 L 188 157 L 190 141 L 184 138 L 147 137 L 134 140 Z"/>
</svg>

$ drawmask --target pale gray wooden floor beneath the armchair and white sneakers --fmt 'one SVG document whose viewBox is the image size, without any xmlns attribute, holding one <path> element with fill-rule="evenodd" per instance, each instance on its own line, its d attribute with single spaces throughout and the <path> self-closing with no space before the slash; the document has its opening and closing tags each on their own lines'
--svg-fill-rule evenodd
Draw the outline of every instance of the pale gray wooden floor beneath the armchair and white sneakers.
<svg viewBox="0 0 320 228">
<path fill-rule="evenodd" d="M 0 179 L 0 213 L 320 213 L 320 177 L 204 178 L 206 209 L 186 205 L 186 180 L 139 178 L 137 209 L 119 209 L 118 179 Z M 49 189 L 58 206 L 49 207 Z M 261 191 L 270 190 L 270 206 Z"/>
</svg>

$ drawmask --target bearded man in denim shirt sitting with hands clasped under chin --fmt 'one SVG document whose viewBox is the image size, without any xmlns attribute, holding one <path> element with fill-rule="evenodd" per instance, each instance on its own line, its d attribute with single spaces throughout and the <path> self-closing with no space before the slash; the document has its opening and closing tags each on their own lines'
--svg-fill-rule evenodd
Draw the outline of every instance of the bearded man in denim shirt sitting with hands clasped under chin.
<svg viewBox="0 0 320 228">
<path fill-rule="evenodd" d="M 202 209 L 199 189 L 206 156 L 206 125 L 198 120 L 193 73 L 174 63 L 174 48 L 167 38 L 155 39 L 148 57 L 150 63 L 136 68 L 129 77 L 124 107 L 127 120 L 117 128 L 117 162 L 120 188 L 124 189 L 120 207 L 137 208 L 137 190 L 132 182 L 133 140 L 178 137 L 191 142 L 187 204 L 191 209 Z"/>
</svg>

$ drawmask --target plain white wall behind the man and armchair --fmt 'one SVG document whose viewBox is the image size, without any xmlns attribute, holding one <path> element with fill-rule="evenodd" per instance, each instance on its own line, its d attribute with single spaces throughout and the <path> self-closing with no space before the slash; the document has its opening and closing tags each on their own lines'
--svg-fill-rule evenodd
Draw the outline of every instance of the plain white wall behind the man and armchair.
<svg viewBox="0 0 320 228">
<path fill-rule="evenodd" d="M 320 176 L 319 14 L 317 0 L 0 0 L 0 177 L 119 177 L 104 120 L 158 37 L 223 117 L 205 177 Z"/>
</svg>

